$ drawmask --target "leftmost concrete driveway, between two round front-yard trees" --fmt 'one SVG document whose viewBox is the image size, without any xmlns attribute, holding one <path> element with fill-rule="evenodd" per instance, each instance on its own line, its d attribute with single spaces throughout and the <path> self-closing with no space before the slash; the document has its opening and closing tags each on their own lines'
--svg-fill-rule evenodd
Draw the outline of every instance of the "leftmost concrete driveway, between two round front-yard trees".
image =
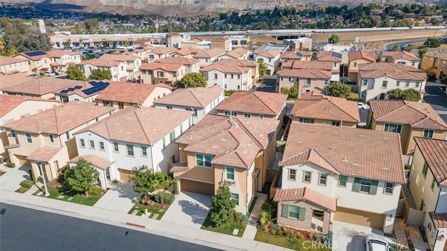
<svg viewBox="0 0 447 251">
<path fill-rule="evenodd" d="M 135 197 L 140 196 L 138 192 L 133 191 L 131 182 L 110 183 L 110 189 L 94 204 L 94 207 L 128 213 L 135 204 Z"/>
</svg>

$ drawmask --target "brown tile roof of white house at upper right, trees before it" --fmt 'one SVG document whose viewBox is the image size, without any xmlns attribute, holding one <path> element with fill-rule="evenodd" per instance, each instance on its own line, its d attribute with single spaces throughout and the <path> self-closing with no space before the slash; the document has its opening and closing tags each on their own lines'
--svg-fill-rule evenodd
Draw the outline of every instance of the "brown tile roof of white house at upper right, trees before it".
<svg viewBox="0 0 447 251">
<path fill-rule="evenodd" d="M 391 77 L 397 80 L 427 79 L 427 73 L 418 68 L 404 66 L 400 63 L 362 63 L 358 66 L 358 73 L 362 78 Z"/>
</svg>

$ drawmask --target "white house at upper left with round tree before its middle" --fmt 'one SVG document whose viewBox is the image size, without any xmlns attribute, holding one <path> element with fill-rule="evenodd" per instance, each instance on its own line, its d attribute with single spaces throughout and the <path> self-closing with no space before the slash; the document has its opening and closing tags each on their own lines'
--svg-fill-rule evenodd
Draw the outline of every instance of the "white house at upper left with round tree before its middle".
<svg viewBox="0 0 447 251">
<path fill-rule="evenodd" d="M 78 67 L 82 70 L 85 77 L 89 79 L 92 70 L 108 70 L 112 75 L 112 81 L 125 82 L 128 80 L 126 63 L 105 59 L 90 59 L 78 63 Z"/>
</svg>

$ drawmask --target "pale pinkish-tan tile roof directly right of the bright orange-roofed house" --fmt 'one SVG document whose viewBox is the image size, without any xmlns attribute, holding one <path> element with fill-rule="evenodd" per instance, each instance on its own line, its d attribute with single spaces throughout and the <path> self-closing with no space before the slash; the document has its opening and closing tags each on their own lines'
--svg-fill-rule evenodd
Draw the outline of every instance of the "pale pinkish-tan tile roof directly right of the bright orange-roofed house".
<svg viewBox="0 0 447 251">
<path fill-rule="evenodd" d="M 219 98 L 223 91 L 224 90 L 217 85 L 206 88 L 179 88 L 173 91 L 173 93 L 154 101 L 154 104 L 205 108 L 210 105 L 211 102 Z"/>
</svg>

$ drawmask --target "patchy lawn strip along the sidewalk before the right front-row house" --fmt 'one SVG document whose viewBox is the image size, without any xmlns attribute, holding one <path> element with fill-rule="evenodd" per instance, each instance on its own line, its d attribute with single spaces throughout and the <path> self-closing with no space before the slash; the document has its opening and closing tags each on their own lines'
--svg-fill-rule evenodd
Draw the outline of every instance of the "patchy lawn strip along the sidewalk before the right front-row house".
<svg viewBox="0 0 447 251">
<path fill-rule="evenodd" d="M 329 251 L 330 248 L 318 247 L 314 244 L 312 247 L 312 241 L 296 240 L 290 241 L 286 236 L 277 236 L 265 231 L 258 230 L 255 241 L 261 241 L 263 243 L 270 243 L 272 245 L 278 245 L 284 248 L 290 248 L 292 250 L 306 250 L 306 251 Z"/>
</svg>

